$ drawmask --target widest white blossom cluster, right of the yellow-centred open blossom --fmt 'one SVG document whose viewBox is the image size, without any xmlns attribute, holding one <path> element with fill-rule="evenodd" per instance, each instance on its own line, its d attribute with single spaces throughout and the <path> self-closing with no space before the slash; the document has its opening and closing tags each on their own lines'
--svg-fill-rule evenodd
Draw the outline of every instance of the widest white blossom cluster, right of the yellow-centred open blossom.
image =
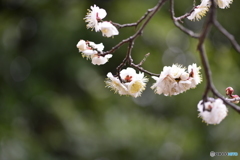
<svg viewBox="0 0 240 160">
<path fill-rule="evenodd" d="M 200 67 L 196 64 L 189 65 L 188 71 L 180 65 L 165 66 L 159 77 L 152 78 L 156 83 L 151 88 L 165 96 L 178 95 L 195 88 L 202 81 Z"/>
</svg>

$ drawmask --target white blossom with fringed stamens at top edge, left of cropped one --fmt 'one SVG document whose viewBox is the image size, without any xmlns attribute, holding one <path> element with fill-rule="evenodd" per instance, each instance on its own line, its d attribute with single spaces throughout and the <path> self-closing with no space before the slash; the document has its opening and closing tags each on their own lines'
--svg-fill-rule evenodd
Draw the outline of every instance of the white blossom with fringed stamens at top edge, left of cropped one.
<svg viewBox="0 0 240 160">
<path fill-rule="evenodd" d="M 211 2 L 209 0 L 202 0 L 201 4 L 196 6 L 194 11 L 187 18 L 189 20 L 200 20 L 203 16 L 206 15 L 208 8 Z"/>
</svg>

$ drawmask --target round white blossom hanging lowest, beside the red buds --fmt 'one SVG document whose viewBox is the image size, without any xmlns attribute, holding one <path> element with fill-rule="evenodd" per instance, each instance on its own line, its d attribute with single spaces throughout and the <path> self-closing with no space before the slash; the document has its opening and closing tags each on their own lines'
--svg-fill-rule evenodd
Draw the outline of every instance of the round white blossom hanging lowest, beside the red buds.
<svg viewBox="0 0 240 160">
<path fill-rule="evenodd" d="M 219 124 L 226 116 L 228 109 L 221 99 L 214 99 L 211 102 L 201 100 L 198 105 L 199 117 L 207 124 Z"/>
</svg>

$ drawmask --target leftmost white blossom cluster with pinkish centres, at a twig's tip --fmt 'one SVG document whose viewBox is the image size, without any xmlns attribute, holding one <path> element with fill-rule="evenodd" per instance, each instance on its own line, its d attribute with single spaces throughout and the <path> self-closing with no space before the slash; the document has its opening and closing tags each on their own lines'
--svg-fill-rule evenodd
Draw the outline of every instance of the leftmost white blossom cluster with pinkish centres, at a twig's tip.
<svg viewBox="0 0 240 160">
<path fill-rule="evenodd" d="M 80 40 L 77 44 L 79 52 L 83 57 L 92 60 L 94 65 L 102 65 L 108 62 L 108 59 L 112 57 L 112 54 L 102 55 L 104 45 L 102 43 L 95 44 L 91 41 Z"/>
</svg>

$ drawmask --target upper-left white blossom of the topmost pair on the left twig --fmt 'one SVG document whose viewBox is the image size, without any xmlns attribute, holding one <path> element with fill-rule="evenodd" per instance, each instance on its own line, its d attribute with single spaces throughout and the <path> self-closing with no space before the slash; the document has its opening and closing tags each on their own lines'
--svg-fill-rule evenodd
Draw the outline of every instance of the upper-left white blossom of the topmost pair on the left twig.
<svg viewBox="0 0 240 160">
<path fill-rule="evenodd" d="M 87 22 L 87 28 L 94 28 L 96 32 L 100 30 L 99 28 L 99 21 L 106 17 L 107 12 L 105 9 L 99 8 L 94 4 L 88 9 L 88 13 L 86 15 L 85 22 Z"/>
</svg>

